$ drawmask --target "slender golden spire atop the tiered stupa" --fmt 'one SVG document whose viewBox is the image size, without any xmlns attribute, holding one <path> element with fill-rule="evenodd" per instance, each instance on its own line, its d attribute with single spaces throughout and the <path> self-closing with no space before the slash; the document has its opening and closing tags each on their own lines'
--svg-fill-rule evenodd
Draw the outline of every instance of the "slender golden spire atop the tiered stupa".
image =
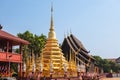
<svg viewBox="0 0 120 80">
<path fill-rule="evenodd" d="M 51 6 L 51 22 L 50 22 L 50 32 L 48 33 L 49 39 L 56 39 L 56 34 L 54 31 L 54 22 L 53 22 L 53 6 Z"/>
</svg>

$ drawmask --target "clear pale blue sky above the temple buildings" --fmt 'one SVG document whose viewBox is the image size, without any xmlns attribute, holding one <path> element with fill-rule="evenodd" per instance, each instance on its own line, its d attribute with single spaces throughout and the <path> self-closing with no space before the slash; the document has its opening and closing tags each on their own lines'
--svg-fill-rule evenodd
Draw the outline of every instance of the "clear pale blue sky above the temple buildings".
<svg viewBox="0 0 120 80">
<path fill-rule="evenodd" d="M 102 58 L 120 57 L 120 0 L 0 0 L 0 24 L 13 35 L 48 35 L 51 3 L 56 37 L 70 32 Z"/>
</svg>

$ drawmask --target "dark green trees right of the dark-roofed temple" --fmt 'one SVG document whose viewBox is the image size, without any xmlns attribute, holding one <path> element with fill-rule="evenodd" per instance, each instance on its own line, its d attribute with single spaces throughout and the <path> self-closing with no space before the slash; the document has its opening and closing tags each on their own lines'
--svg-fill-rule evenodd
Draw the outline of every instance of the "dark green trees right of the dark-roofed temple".
<svg viewBox="0 0 120 80">
<path fill-rule="evenodd" d="M 102 59 L 100 56 L 93 56 L 96 59 L 96 64 L 98 65 L 99 68 L 103 69 L 104 72 L 110 72 L 111 70 L 113 72 L 118 72 L 120 70 L 120 65 L 108 61 L 107 59 Z"/>
</svg>

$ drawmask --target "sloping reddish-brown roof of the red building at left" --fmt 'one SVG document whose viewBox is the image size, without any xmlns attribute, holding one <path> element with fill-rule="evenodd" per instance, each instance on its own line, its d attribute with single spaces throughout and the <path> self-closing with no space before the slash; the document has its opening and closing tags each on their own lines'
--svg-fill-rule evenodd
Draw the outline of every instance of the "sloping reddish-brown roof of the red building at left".
<svg viewBox="0 0 120 80">
<path fill-rule="evenodd" d="M 8 32 L 0 30 L 0 41 L 7 41 L 7 40 L 10 41 L 13 45 L 29 44 L 29 42 L 26 40 L 23 40 L 23 39 L 16 37 Z"/>
</svg>

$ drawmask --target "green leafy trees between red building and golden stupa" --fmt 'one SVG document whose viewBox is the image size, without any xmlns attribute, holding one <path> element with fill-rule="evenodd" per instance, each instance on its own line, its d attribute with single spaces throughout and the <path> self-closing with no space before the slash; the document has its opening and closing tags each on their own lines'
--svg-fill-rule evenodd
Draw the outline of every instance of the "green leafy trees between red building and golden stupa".
<svg viewBox="0 0 120 80">
<path fill-rule="evenodd" d="M 40 36 L 33 34 L 29 31 L 26 31 L 24 33 L 18 33 L 18 37 L 27 40 L 30 42 L 28 46 L 23 47 L 23 60 L 26 61 L 27 53 L 34 53 L 35 57 L 38 55 L 40 56 L 40 53 L 42 51 L 42 48 L 45 45 L 46 42 L 46 36 L 41 34 Z"/>
</svg>

